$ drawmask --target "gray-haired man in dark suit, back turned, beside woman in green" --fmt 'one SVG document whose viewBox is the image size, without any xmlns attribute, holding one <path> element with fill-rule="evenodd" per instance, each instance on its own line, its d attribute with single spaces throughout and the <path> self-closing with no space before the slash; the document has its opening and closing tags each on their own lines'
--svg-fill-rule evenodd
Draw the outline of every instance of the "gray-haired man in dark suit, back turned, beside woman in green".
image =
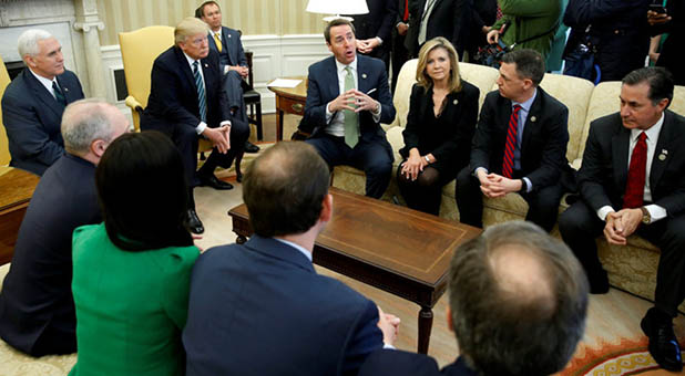
<svg viewBox="0 0 685 376">
<path fill-rule="evenodd" d="M 67 154 L 35 187 L 0 292 L 0 337 L 12 347 L 33 356 L 76 352 L 71 234 L 102 221 L 95 166 L 129 128 L 126 117 L 102 101 L 81 100 L 64 109 Z"/>
</svg>

